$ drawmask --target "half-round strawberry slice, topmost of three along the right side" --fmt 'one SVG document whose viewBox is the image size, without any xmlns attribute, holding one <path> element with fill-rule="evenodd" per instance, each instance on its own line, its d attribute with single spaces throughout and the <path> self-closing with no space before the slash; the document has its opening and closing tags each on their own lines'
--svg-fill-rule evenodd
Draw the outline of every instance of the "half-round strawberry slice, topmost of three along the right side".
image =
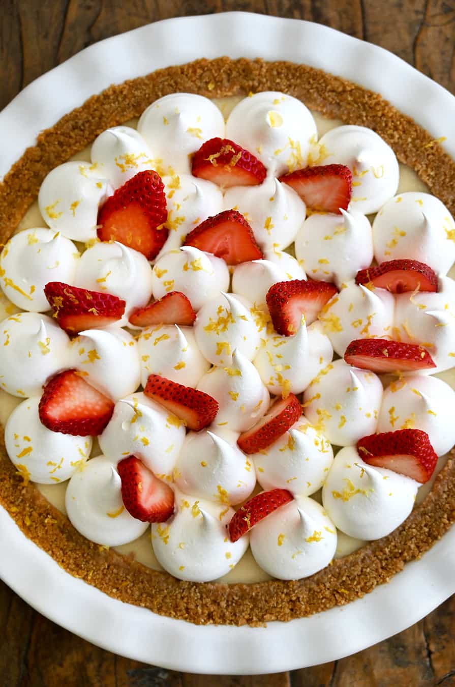
<svg viewBox="0 0 455 687">
<path fill-rule="evenodd" d="M 418 260 L 388 260 L 377 267 L 366 267 L 357 273 L 355 282 L 373 284 L 391 293 L 438 290 L 436 273 Z"/>
</svg>

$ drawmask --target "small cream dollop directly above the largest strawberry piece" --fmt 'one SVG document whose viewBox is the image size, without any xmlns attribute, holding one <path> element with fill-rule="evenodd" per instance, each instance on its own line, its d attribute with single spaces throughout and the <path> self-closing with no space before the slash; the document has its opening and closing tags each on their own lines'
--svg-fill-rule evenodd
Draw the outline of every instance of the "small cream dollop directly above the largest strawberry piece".
<svg viewBox="0 0 455 687">
<path fill-rule="evenodd" d="M 139 131 L 131 126 L 112 126 L 95 138 L 91 147 L 91 161 L 99 174 L 119 188 L 135 174 L 151 170 L 152 152 Z"/>
</svg>

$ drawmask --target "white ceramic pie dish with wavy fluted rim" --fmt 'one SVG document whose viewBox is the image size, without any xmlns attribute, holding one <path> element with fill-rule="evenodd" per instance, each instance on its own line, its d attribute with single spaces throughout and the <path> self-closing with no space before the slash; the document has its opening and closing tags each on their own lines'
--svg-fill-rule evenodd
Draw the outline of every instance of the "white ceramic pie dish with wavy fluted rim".
<svg viewBox="0 0 455 687">
<path fill-rule="evenodd" d="M 108 38 L 34 81 L 0 113 L 0 131 L 8 132 L 0 177 L 34 144 L 39 131 L 93 93 L 160 67 L 222 55 L 319 67 L 382 93 L 434 138 L 453 130 L 455 98 L 384 49 L 318 24 L 232 12 L 169 19 Z M 455 158 L 455 139 L 443 145 Z M 423 618 L 455 592 L 454 570 L 452 528 L 390 583 L 345 607 L 265 628 L 194 626 L 124 604 L 71 577 L 0 507 L 0 576 L 5 583 L 93 644 L 177 671 L 260 674 L 339 659 Z"/>
</svg>

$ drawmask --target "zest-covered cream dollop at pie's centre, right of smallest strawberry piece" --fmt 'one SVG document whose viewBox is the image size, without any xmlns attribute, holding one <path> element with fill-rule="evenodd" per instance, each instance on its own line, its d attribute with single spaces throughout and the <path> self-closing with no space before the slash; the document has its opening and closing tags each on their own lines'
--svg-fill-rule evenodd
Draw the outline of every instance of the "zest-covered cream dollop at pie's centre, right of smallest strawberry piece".
<svg viewBox="0 0 455 687">
<path fill-rule="evenodd" d="M 198 312 L 194 335 L 202 355 L 213 365 L 231 365 L 235 348 L 248 360 L 259 350 L 255 308 L 236 293 L 218 293 Z"/>
</svg>

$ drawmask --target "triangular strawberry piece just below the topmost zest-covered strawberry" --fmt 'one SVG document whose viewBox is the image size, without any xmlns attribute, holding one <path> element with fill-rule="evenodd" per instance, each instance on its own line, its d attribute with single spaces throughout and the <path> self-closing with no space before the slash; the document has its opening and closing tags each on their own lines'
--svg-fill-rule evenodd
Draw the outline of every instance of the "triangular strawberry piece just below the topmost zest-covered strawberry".
<svg viewBox="0 0 455 687">
<path fill-rule="evenodd" d="M 250 225 L 237 210 L 224 210 L 208 217 L 189 232 L 185 246 L 195 246 L 213 253 L 227 264 L 260 260 L 264 256 L 256 243 Z"/>
</svg>

